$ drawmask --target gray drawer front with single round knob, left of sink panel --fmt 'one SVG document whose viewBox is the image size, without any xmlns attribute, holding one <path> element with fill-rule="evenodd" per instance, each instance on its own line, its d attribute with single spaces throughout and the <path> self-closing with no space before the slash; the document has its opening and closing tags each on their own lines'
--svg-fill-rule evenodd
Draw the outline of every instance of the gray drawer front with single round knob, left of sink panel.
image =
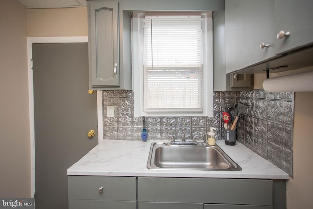
<svg viewBox="0 0 313 209">
<path fill-rule="evenodd" d="M 99 188 L 103 187 L 102 192 Z M 136 200 L 136 178 L 68 176 L 68 198 L 83 200 Z"/>
</svg>

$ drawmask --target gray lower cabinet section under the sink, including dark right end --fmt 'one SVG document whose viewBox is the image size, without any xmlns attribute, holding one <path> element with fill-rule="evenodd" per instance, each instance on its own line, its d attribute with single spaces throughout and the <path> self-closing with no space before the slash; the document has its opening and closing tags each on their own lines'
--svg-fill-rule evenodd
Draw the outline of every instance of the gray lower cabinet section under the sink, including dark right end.
<svg viewBox="0 0 313 209">
<path fill-rule="evenodd" d="M 285 180 L 138 177 L 138 209 L 286 209 Z"/>
</svg>

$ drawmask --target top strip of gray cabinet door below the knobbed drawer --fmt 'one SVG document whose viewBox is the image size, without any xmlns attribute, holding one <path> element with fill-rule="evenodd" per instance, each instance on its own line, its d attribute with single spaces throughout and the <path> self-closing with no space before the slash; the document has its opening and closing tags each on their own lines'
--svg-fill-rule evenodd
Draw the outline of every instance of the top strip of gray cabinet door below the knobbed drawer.
<svg viewBox="0 0 313 209">
<path fill-rule="evenodd" d="M 68 200 L 69 209 L 136 209 L 135 201 Z"/>
</svg>

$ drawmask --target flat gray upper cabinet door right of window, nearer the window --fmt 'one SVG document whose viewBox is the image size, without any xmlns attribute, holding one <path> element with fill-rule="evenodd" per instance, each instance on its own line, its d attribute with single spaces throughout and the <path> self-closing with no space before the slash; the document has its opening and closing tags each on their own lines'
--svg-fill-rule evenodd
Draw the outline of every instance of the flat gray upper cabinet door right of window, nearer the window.
<svg viewBox="0 0 313 209">
<path fill-rule="evenodd" d="M 226 73 L 274 56 L 274 0 L 225 0 Z"/>
</svg>

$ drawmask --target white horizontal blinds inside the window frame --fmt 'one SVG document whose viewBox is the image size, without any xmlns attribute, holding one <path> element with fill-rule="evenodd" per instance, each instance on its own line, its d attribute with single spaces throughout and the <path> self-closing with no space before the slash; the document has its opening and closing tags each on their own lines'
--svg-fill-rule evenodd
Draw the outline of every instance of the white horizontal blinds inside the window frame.
<svg viewBox="0 0 313 209">
<path fill-rule="evenodd" d="M 202 21 L 197 16 L 146 16 L 144 111 L 202 112 Z"/>
</svg>

